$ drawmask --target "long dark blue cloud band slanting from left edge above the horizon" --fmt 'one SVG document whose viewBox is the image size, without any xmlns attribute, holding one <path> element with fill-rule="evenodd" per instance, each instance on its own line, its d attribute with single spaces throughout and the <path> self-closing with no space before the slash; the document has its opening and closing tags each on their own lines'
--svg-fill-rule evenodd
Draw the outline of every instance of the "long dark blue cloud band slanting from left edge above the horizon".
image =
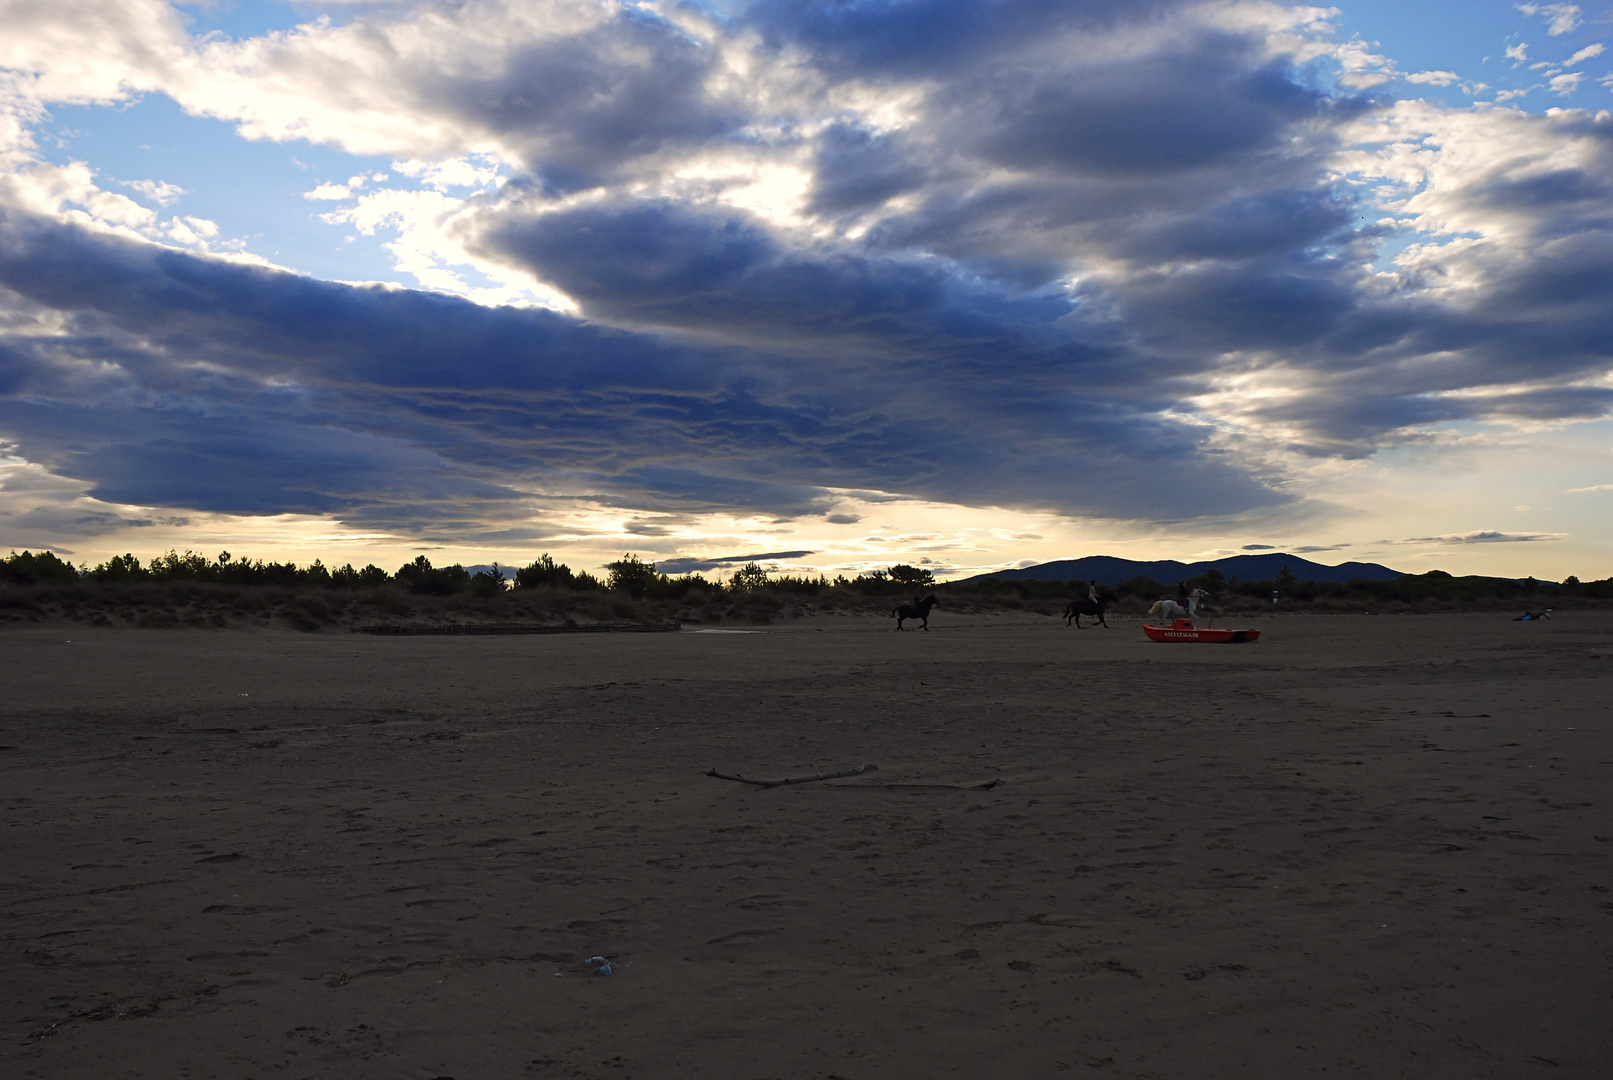
<svg viewBox="0 0 1613 1080">
<path fill-rule="evenodd" d="M 671 279 L 682 280 L 679 268 Z M 823 277 L 819 295 L 837 287 L 823 268 L 779 272 Z M 453 513 L 427 511 L 437 500 L 515 500 L 473 479 L 492 471 L 569 479 L 647 508 L 779 516 L 826 513 L 837 496 L 823 485 L 1095 513 L 1147 513 L 1161 490 L 1192 490 L 1202 506 L 1274 498 L 1200 455 L 1203 432 L 1052 387 L 1086 355 L 1061 335 L 892 277 L 905 303 L 889 301 L 831 363 L 811 364 L 315 282 L 10 214 L 0 284 L 71 311 L 76 359 L 97 351 L 84 342 L 115 342 L 124 385 L 94 413 L 11 398 L 3 416 L 40 459 L 103 496 L 368 521 L 405 505 Z M 831 337 L 821 308 L 800 322 L 803 335 Z M 950 355 L 884 364 L 868 351 L 882 335 L 945 342 Z M 1137 458 L 1150 463 L 1148 492 L 1126 484 Z"/>
</svg>

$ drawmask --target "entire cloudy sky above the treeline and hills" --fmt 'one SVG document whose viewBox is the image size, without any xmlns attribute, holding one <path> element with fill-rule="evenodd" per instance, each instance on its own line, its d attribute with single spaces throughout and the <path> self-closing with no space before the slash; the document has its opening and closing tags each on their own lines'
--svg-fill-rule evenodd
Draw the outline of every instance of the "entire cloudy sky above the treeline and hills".
<svg viewBox="0 0 1613 1080">
<path fill-rule="evenodd" d="M 0 26 L 0 551 L 1613 575 L 1613 3 Z"/>
</svg>

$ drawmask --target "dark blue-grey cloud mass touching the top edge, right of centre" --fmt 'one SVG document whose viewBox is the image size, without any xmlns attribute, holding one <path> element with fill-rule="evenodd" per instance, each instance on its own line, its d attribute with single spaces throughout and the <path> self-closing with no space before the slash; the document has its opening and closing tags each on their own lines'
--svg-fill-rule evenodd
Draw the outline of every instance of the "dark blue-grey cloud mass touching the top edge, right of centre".
<svg viewBox="0 0 1613 1080">
<path fill-rule="evenodd" d="M 871 211 L 900 193 L 907 206 L 881 214 L 871 243 L 1034 289 L 1092 256 L 1294 251 L 1353 221 L 1324 163 L 1332 131 L 1371 103 L 1303 85 L 1258 34 L 1205 29 L 1173 11 L 1184 6 L 787 5 L 752 18 L 781 52 L 806 47 L 842 77 L 934 87 L 897 132 L 818 137 L 815 210 Z M 1090 37 L 1105 31 L 1153 47 Z"/>
</svg>

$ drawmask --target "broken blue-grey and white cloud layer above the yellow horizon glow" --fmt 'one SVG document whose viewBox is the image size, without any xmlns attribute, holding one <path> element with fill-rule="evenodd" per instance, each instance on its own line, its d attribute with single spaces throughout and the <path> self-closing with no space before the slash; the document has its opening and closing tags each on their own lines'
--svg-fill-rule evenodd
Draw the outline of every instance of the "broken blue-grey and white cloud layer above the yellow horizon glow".
<svg viewBox="0 0 1613 1080">
<path fill-rule="evenodd" d="M 1613 406 L 1613 118 L 1366 97 L 1324 10 L 553 0 L 248 42 L 5 11 L 0 438 L 110 501 L 458 537 L 847 490 L 1179 521 Z M 218 258 L 39 161 L 52 102 L 137 92 L 450 177 L 408 197 L 432 258 L 555 309 Z M 406 229 L 366 184 L 310 197 Z"/>
</svg>

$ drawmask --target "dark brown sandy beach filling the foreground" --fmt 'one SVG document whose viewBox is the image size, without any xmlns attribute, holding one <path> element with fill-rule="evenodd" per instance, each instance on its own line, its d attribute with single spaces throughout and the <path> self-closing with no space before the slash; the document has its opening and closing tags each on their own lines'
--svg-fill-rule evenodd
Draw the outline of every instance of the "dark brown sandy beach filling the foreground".
<svg viewBox="0 0 1613 1080">
<path fill-rule="evenodd" d="M 6 630 L 0 1075 L 1613 1075 L 1613 613 L 932 622 Z"/>
</svg>

